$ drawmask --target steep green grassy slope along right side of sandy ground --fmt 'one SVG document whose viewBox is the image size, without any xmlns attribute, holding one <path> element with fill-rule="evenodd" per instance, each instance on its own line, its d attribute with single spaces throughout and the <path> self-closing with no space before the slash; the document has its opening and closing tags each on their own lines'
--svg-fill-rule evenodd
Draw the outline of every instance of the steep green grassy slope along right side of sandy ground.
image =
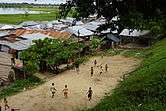
<svg viewBox="0 0 166 111">
<path fill-rule="evenodd" d="M 141 66 L 112 95 L 86 111 L 166 111 L 166 39 L 144 54 Z"/>
</svg>

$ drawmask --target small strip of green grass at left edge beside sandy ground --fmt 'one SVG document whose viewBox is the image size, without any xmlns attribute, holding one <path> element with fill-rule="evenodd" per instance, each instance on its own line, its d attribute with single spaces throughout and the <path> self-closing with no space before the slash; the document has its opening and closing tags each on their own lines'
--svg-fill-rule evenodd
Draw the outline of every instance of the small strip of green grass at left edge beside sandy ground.
<svg viewBox="0 0 166 111">
<path fill-rule="evenodd" d="M 35 76 L 31 76 L 25 80 L 16 80 L 14 83 L 0 91 L 0 99 L 21 92 L 24 88 L 28 89 L 41 83 L 43 83 L 43 81 Z"/>
</svg>

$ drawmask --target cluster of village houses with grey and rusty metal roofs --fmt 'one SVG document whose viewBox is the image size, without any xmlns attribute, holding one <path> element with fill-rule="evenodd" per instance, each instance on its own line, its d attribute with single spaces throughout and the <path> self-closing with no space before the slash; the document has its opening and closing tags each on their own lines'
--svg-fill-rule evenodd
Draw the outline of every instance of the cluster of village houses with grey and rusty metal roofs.
<svg viewBox="0 0 166 111">
<path fill-rule="evenodd" d="M 112 22 L 118 21 L 114 17 Z M 77 21 L 75 18 L 67 17 L 66 19 L 54 20 L 49 22 L 26 21 L 18 25 L 1 24 L 0 26 L 0 51 L 1 64 L 11 64 L 11 58 L 18 59 L 19 53 L 33 45 L 33 40 L 51 38 L 51 39 L 72 39 L 75 42 L 90 41 L 94 36 L 104 38 L 107 41 L 107 47 L 114 48 L 146 48 L 149 47 L 152 38 L 149 36 L 150 31 L 138 31 L 136 29 L 124 29 L 119 35 L 117 30 L 107 29 L 99 32 L 97 29 L 105 24 L 106 20 L 101 17 L 96 19 L 95 15 L 90 16 L 87 20 Z M 146 43 L 144 43 L 146 42 Z M 136 43 L 138 46 L 126 45 L 127 43 Z M 140 45 L 139 45 L 140 44 Z M 8 55 L 8 56 L 6 56 Z M 3 58 L 5 56 L 6 58 Z M 21 64 L 18 62 L 18 64 Z M 17 64 L 16 64 L 17 65 Z M 9 68 L 10 69 L 10 68 Z M 7 72 L 1 72 L 2 79 L 7 80 Z"/>
</svg>

